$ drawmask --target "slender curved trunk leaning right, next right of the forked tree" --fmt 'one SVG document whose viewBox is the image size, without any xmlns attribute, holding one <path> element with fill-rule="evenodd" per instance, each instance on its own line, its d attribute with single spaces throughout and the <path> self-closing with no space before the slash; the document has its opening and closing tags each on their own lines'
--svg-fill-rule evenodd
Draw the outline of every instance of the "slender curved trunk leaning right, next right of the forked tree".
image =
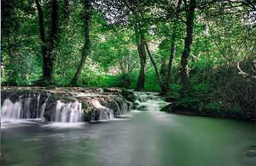
<svg viewBox="0 0 256 166">
<path fill-rule="evenodd" d="M 90 14 L 91 13 L 90 12 L 91 12 L 91 0 L 85 0 L 84 1 L 84 39 L 85 41 L 84 41 L 81 61 L 77 68 L 76 74 L 74 75 L 74 78 L 70 82 L 72 86 L 77 86 L 84 68 L 86 57 L 91 52 L 90 50 L 91 49 L 91 41 L 90 41 Z"/>
</svg>

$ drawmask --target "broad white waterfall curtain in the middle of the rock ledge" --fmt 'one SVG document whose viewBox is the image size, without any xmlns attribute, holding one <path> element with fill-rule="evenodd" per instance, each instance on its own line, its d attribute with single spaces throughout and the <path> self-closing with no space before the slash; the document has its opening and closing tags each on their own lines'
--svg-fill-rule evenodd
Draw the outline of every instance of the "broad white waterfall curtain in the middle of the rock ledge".
<svg viewBox="0 0 256 166">
<path fill-rule="evenodd" d="M 82 104 L 79 102 L 62 103 L 57 101 L 54 121 L 77 123 L 83 121 Z"/>
</svg>

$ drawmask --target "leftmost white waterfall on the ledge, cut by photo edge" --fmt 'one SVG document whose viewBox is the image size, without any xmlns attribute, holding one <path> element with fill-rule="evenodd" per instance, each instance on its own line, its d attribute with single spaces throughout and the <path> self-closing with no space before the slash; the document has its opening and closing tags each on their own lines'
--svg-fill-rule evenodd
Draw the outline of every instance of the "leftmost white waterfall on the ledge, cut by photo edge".
<svg viewBox="0 0 256 166">
<path fill-rule="evenodd" d="M 1 117 L 3 119 L 20 119 L 22 116 L 21 103 L 13 103 L 10 99 L 6 99 L 3 102 L 1 108 Z"/>
</svg>

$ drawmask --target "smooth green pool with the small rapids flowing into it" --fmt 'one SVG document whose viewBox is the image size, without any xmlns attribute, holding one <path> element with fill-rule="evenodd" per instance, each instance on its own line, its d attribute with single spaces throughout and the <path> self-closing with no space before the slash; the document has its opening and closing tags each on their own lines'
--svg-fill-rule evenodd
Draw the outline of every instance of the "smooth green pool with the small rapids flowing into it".
<svg viewBox="0 0 256 166">
<path fill-rule="evenodd" d="M 108 123 L 4 122 L 3 166 L 247 166 L 255 124 L 159 112 L 166 105 L 142 93 L 140 105 Z M 147 96 L 148 95 L 148 96 Z M 13 106 L 14 107 L 14 106 Z"/>
</svg>

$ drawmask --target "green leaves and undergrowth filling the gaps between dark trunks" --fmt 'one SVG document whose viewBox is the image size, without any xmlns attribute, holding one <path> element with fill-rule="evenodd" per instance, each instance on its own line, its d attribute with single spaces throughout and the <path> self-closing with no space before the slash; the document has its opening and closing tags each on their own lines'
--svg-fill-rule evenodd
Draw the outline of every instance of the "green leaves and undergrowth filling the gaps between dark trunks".
<svg viewBox="0 0 256 166">
<path fill-rule="evenodd" d="M 43 59 L 35 1 L 3 2 L 1 83 L 8 86 L 38 85 L 43 81 Z M 40 2 L 45 18 L 49 18 L 49 1 Z M 184 2 L 179 17 L 173 15 L 176 1 L 127 1 L 134 11 L 129 11 L 131 8 L 125 7 L 121 1 L 97 2 L 100 3 L 93 3 L 90 24 L 92 54 L 86 59 L 79 86 L 135 89 L 140 70 L 135 22 L 140 23 L 158 68 L 162 64 L 164 67 L 168 65 L 173 27 L 177 27 L 168 95 L 178 99 L 178 105 L 198 110 L 255 111 L 255 80 L 241 77 L 236 66 L 237 61 L 242 61 L 243 70 L 255 75 L 255 68 L 252 69 L 252 61 L 256 59 L 255 11 L 250 5 L 239 1 L 210 4 L 204 1 L 207 5 L 196 9 L 188 64 L 190 90 L 181 98 L 180 56 L 186 36 Z M 202 2 L 198 1 L 198 4 Z M 106 4 L 108 6 L 104 6 Z M 70 0 L 66 19 L 63 14 L 65 7 L 60 1 L 60 31 L 54 50 L 52 82 L 55 86 L 70 86 L 84 43 L 83 4 Z M 44 20 L 47 31 L 49 20 Z M 148 58 L 145 80 L 145 91 L 160 91 L 156 72 Z"/>
</svg>

